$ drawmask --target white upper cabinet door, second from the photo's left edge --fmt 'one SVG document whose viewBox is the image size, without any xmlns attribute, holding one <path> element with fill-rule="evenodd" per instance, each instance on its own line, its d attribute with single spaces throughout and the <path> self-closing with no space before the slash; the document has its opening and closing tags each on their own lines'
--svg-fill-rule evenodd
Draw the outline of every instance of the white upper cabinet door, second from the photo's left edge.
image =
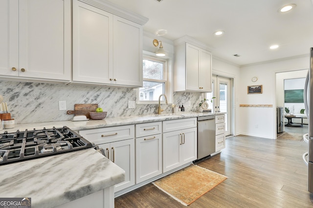
<svg viewBox="0 0 313 208">
<path fill-rule="evenodd" d="M 70 80 L 70 0 L 19 1 L 19 76 Z"/>
</svg>

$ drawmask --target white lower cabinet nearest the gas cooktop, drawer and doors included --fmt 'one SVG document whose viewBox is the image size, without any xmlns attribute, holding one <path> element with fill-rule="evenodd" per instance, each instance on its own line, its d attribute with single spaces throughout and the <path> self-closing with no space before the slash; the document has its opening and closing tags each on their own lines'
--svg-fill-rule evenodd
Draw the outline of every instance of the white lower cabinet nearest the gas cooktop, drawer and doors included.
<svg viewBox="0 0 313 208">
<path fill-rule="evenodd" d="M 114 192 L 135 184 L 134 125 L 79 131 L 89 142 L 103 148 L 106 157 L 125 170 L 125 181 L 114 186 Z"/>
</svg>

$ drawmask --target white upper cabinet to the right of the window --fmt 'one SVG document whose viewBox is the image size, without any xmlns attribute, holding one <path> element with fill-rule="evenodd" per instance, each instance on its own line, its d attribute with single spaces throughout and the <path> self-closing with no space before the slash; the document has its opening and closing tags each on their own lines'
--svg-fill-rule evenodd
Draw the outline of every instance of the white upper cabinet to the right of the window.
<svg viewBox="0 0 313 208">
<path fill-rule="evenodd" d="M 212 54 L 188 42 L 175 45 L 174 91 L 212 92 Z"/>
</svg>

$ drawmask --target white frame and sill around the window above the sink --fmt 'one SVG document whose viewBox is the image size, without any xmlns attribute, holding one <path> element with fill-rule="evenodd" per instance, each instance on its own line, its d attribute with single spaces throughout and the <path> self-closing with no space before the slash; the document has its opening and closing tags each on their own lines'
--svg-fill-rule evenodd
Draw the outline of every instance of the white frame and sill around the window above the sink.
<svg viewBox="0 0 313 208">
<path fill-rule="evenodd" d="M 164 57 L 156 57 L 155 53 L 143 51 L 142 53 L 142 59 L 148 59 L 152 61 L 162 62 L 163 65 L 163 78 L 164 78 L 164 85 L 165 85 L 165 95 L 167 97 L 168 104 L 171 104 L 173 102 L 173 86 L 172 86 L 172 58 L 168 56 Z M 143 81 L 149 81 L 149 79 L 143 79 Z M 160 81 L 162 82 L 162 81 Z M 137 104 L 158 104 L 158 100 L 140 100 L 140 93 L 139 88 L 137 90 L 137 96 L 136 96 L 136 103 Z M 145 95 L 143 95 L 145 96 Z M 161 97 L 163 99 L 163 97 Z M 165 99 L 161 100 L 161 104 L 165 104 Z"/>
</svg>

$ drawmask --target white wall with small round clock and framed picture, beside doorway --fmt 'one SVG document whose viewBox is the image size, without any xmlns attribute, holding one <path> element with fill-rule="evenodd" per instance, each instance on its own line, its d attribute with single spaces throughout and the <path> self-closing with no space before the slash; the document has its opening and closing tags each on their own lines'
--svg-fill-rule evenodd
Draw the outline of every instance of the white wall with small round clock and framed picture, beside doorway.
<svg viewBox="0 0 313 208">
<path fill-rule="evenodd" d="M 309 69 L 309 66 L 308 53 L 305 56 L 241 67 L 238 93 L 240 104 L 270 104 L 273 107 L 239 108 L 238 134 L 276 138 L 276 73 Z M 251 81 L 253 76 L 258 77 L 256 82 Z M 263 94 L 247 95 L 249 85 L 263 85 Z"/>
</svg>

